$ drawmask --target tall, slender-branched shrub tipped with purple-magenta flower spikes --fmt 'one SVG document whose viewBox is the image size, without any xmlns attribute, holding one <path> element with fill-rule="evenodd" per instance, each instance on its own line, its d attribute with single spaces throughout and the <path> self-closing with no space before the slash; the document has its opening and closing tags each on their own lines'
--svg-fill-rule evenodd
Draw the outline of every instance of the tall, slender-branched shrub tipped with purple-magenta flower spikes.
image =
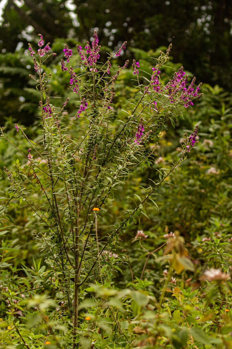
<svg viewBox="0 0 232 349">
<path fill-rule="evenodd" d="M 55 107 L 51 103 L 52 96 L 48 95 L 51 74 L 43 72 L 43 66 L 55 53 L 49 54 L 49 43 L 44 46 L 43 37 L 39 36 L 37 53 L 30 44 L 29 52 L 35 69 L 31 79 L 38 83 L 40 90 L 41 139 L 35 144 L 27 137 L 24 128 L 16 124 L 16 132 L 22 132 L 29 147 L 23 153 L 27 161 L 25 173 L 22 180 L 7 168 L 5 172 L 20 203 L 23 200 L 41 224 L 42 229 L 35 233 L 41 248 L 46 250 L 55 286 L 63 295 L 65 311 L 73 327 L 70 341 L 75 348 L 79 343 L 80 302 L 88 283 L 95 280 L 98 286 L 103 286 L 103 279 L 108 281 L 111 269 L 117 267 L 118 258 L 108 249 L 117 242 L 123 229 L 131 226 L 141 212 L 145 213 L 145 201 L 150 200 L 155 205 L 153 198 L 161 183 L 195 146 L 198 126 L 191 136 L 184 135 L 178 160 L 168 169 L 159 169 L 159 180 L 144 187 L 144 197 L 139 197 L 134 209 L 127 210 L 120 224 L 109 229 L 101 239 L 99 224 L 101 227 L 107 203 L 114 190 L 122 186 L 138 166 L 154 163 L 153 152 L 157 144 L 153 149 L 147 149 L 148 142 L 158 140 L 168 120 L 175 126 L 179 108 L 193 105 L 193 100 L 201 96 L 200 85 L 194 89 L 193 79 L 187 87 L 183 67 L 169 83 L 162 85 L 160 73 L 169 59 L 170 45 L 166 53 L 160 52 L 148 83 L 140 76 L 139 62 L 133 61 L 138 93 L 131 99 L 127 110 L 121 109 L 118 115 L 114 107 L 117 98 L 115 82 L 129 62 L 114 69 L 113 60 L 122 55 L 126 42 L 111 52 L 102 64 L 99 62 L 101 46 L 95 31 L 91 46 L 87 42 L 85 50 L 80 45 L 77 45 L 76 53 L 67 45 L 63 49 L 66 62 L 61 60 L 61 70 L 70 75 L 70 89 L 78 104 L 75 116 L 70 119 L 66 111 L 69 98 Z M 146 81 L 145 85 L 142 81 Z M 1 135 L 17 148 L 7 138 L 4 128 L 1 128 Z M 46 204 L 38 203 L 34 195 L 37 188 Z M 136 239 L 141 242 L 146 237 L 140 231 Z M 106 299 L 99 290 L 94 289 Z M 111 306 L 107 304 L 107 307 L 111 312 Z"/>
</svg>

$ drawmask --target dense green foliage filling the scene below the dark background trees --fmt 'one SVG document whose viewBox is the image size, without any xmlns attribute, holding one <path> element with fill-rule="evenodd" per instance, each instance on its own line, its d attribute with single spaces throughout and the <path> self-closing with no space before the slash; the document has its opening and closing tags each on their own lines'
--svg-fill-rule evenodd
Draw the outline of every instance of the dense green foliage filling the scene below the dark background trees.
<svg viewBox="0 0 232 349">
<path fill-rule="evenodd" d="M 134 53 L 147 85 L 154 61 Z M 168 65 L 162 86 L 179 67 Z M 89 76 L 77 64 L 78 97 L 55 67 L 29 91 L 54 118 L 40 109 L 38 127 L 1 128 L 0 348 L 230 348 L 231 95 L 203 85 L 183 110 L 156 94 L 154 118 L 140 101 L 154 92 L 121 69 L 108 111 L 99 90 L 112 76 L 98 83 L 100 65 Z M 88 109 L 74 119 L 82 98 Z M 151 134 L 134 144 L 141 115 Z M 188 154 L 182 135 L 196 124 Z"/>
</svg>

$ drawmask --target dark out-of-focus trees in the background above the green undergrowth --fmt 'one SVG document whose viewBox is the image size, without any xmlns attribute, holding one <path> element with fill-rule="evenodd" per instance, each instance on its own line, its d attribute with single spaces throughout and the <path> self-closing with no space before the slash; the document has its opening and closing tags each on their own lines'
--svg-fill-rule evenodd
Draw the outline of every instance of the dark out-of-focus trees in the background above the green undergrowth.
<svg viewBox="0 0 232 349">
<path fill-rule="evenodd" d="M 8 62 L 8 57 L 3 56 L 26 49 L 29 41 L 37 45 L 38 33 L 46 42 L 63 38 L 71 45 L 74 40 L 80 43 L 91 40 L 93 30 L 98 28 L 99 40 L 109 51 L 127 40 L 126 56 L 130 60 L 134 56 L 131 47 L 148 51 L 172 42 L 174 61 L 182 62 L 185 69 L 194 72 L 197 82 L 232 88 L 232 5 L 229 0 L 8 0 L 5 4 L 0 27 L 4 68 L 0 70 L 0 80 L 5 79 L 2 95 L 11 101 L 11 107 L 6 106 L 6 98 L 0 100 L 4 115 L 18 104 L 12 102 L 25 86 L 26 75 L 22 78 L 16 71 L 7 75 L 8 66 L 12 73 L 13 67 L 22 67 L 24 63 L 22 59 L 18 63 L 12 59 Z M 10 85 L 15 87 L 11 93 Z M 27 119 L 31 120 L 31 116 L 27 115 Z"/>
</svg>

